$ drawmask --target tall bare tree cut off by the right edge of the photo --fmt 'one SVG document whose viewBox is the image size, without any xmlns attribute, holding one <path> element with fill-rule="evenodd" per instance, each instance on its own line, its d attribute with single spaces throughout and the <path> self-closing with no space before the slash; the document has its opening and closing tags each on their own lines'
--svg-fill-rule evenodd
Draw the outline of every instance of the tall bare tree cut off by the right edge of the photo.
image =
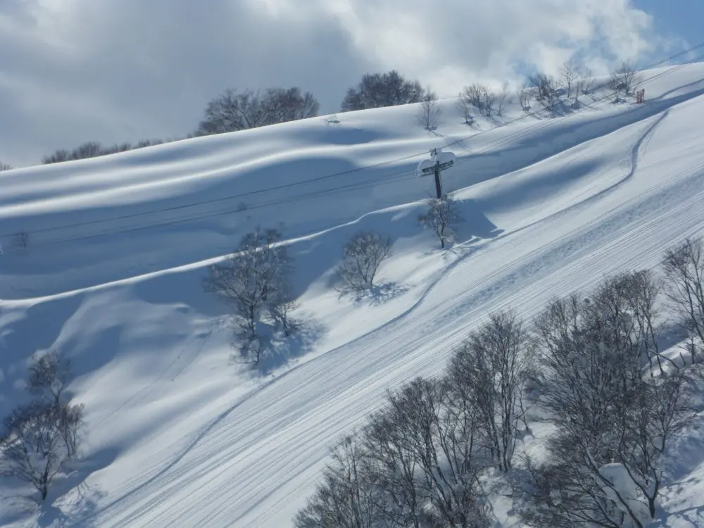
<svg viewBox="0 0 704 528">
<path fill-rule="evenodd" d="M 704 342 L 704 241 L 688 238 L 667 249 L 663 262 L 667 298 L 693 351 Z M 695 359 L 695 358 L 693 358 Z"/>
</svg>

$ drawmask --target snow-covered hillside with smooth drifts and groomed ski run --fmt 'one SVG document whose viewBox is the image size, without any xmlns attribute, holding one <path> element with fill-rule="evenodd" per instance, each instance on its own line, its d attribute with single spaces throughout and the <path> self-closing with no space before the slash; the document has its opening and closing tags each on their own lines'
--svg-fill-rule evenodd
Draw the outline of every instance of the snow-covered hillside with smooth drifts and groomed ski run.
<svg viewBox="0 0 704 528">
<path fill-rule="evenodd" d="M 290 526 L 334 441 L 386 389 L 440 372 L 492 310 L 530 317 L 704 234 L 704 66 L 651 77 L 643 105 L 597 94 L 564 118 L 517 119 L 512 104 L 470 128 L 447 100 L 435 133 L 413 106 L 384 108 L 1 173 L 0 410 L 24 397 L 27 358 L 61 348 L 87 438 L 51 506 L 2 481 L 0 525 Z M 417 222 L 432 181 L 413 170 L 449 144 L 444 187 L 465 221 L 441 251 Z M 229 362 L 225 312 L 201 278 L 276 222 L 306 325 L 253 373 Z M 329 280 L 360 229 L 389 234 L 394 253 L 383 294 L 355 301 Z M 696 526 L 704 432 L 674 448 L 662 525 Z"/>
</svg>

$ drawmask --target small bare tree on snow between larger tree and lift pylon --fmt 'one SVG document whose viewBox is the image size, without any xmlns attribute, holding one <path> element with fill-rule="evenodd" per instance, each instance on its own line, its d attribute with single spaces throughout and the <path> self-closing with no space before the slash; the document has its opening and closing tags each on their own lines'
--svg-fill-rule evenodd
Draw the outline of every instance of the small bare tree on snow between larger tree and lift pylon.
<svg viewBox="0 0 704 528">
<path fill-rule="evenodd" d="M 374 286 L 379 265 L 391 253 L 391 239 L 374 232 L 353 234 L 344 246 L 344 259 L 337 275 L 345 289 L 363 291 Z"/>
</svg>

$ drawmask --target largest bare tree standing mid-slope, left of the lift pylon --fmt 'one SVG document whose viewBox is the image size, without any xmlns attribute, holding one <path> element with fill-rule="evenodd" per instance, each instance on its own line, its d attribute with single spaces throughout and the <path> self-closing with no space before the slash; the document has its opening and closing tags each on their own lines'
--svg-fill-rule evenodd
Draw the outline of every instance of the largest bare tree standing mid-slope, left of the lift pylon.
<svg viewBox="0 0 704 528">
<path fill-rule="evenodd" d="M 232 306 L 235 333 L 244 341 L 243 351 L 251 363 L 258 363 L 261 348 L 254 346 L 263 315 L 276 320 L 276 310 L 292 299 L 289 275 L 293 267 L 286 246 L 279 244 L 279 230 L 257 228 L 246 234 L 234 255 L 210 266 L 204 286 Z"/>
</svg>

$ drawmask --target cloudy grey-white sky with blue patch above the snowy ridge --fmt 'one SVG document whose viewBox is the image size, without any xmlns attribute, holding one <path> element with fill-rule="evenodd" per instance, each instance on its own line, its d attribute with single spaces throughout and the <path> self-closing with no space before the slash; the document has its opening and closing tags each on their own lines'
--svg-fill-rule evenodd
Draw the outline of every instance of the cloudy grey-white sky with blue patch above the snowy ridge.
<svg viewBox="0 0 704 528">
<path fill-rule="evenodd" d="M 441 95 L 698 44 L 703 0 L 0 0 L 0 161 L 183 136 L 227 87 L 300 86 L 336 111 L 363 73 Z"/>
</svg>

